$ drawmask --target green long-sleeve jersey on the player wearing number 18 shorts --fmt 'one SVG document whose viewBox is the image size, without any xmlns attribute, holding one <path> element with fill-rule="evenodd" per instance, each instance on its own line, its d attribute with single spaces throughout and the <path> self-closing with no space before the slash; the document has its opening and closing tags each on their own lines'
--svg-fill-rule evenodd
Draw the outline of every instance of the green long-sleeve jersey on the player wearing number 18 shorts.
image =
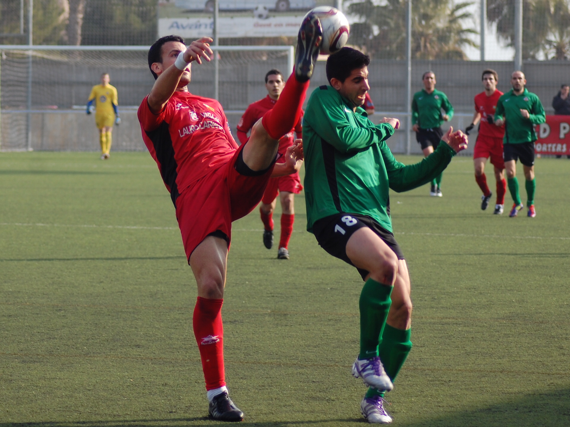
<svg viewBox="0 0 570 427">
<path fill-rule="evenodd" d="M 392 231 L 389 188 L 406 191 L 439 175 L 455 151 L 447 144 L 420 163 L 397 162 L 386 145 L 394 128 L 374 125 L 364 109 L 331 86 L 312 93 L 303 117 L 307 230 L 339 212 L 360 213 Z"/>
</svg>

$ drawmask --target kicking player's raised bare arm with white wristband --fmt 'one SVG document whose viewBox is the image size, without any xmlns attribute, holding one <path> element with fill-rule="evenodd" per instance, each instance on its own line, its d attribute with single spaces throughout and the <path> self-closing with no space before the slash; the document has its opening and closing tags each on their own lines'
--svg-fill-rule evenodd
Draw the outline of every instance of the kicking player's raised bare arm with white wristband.
<svg viewBox="0 0 570 427">
<path fill-rule="evenodd" d="M 202 37 L 199 40 L 195 40 L 190 43 L 188 48 L 186 48 L 186 51 L 184 51 L 184 54 L 182 55 L 182 59 L 187 64 L 193 61 L 201 64 L 202 58 L 206 61 L 210 61 L 209 55 L 213 54 L 213 51 L 210 49 L 211 42 L 212 39 L 209 37 Z M 172 62 L 173 64 L 158 76 L 158 79 L 156 79 L 152 90 L 150 91 L 147 102 L 153 113 L 158 113 L 164 108 L 166 102 L 168 102 L 174 91 L 178 88 L 182 74 L 186 71 L 186 68 L 179 69 L 174 65 L 174 60 L 176 60 L 178 55 L 180 55 L 180 52 L 181 51 L 178 50 L 168 52 L 168 62 Z M 190 79 L 190 77 L 188 77 L 188 79 Z"/>
</svg>

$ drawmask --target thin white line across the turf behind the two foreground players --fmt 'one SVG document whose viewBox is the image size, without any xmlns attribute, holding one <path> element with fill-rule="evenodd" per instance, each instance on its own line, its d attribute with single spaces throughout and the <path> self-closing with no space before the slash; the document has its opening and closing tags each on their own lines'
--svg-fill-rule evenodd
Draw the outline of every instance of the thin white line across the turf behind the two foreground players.
<svg viewBox="0 0 570 427">
<path fill-rule="evenodd" d="M 95 225 L 95 224 L 42 224 L 42 223 L 0 223 L 1 225 L 21 227 L 69 227 L 69 228 L 123 228 L 135 230 L 176 230 L 178 227 L 144 227 L 142 225 Z M 233 228 L 231 231 L 262 232 L 257 228 Z M 294 230 L 295 232 L 295 230 Z M 536 239 L 536 240 L 570 240 L 570 237 L 545 237 L 545 236 L 502 236 L 492 234 L 464 234 L 464 233 L 417 233 L 417 232 L 394 232 L 394 234 L 408 236 L 439 236 L 439 237 L 485 237 L 490 239 Z"/>
</svg>

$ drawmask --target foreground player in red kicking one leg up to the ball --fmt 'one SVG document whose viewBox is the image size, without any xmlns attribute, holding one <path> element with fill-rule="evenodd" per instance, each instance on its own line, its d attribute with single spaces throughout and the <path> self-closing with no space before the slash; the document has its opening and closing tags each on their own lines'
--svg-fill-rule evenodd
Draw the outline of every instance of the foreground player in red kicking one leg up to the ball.
<svg viewBox="0 0 570 427">
<path fill-rule="evenodd" d="M 301 24 L 295 70 L 279 101 L 259 120 L 249 141 L 238 147 L 218 101 L 192 95 L 190 63 L 210 60 L 210 38 L 185 46 L 180 36 L 165 36 L 150 47 L 148 64 L 156 82 L 139 107 L 143 139 L 169 190 L 198 298 L 194 336 L 206 380 L 209 416 L 242 421 L 231 401 L 223 364 L 222 303 L 231 221 L 251 212 L 270 176 L 298 171 L 302 145 L 287 150 L 275 164 L 278 140 L 299 120 L 309 79 L 323 39 L 319 19 Z M 299 141 L 300 142 L 300 141 Z"/>
</svg>

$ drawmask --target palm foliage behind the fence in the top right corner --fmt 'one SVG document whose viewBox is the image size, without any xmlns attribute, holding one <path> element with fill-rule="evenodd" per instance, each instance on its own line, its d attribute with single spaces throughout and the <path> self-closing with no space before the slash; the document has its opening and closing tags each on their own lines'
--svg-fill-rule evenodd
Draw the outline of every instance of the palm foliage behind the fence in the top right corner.
<svg viewBox="0 0 570 427">
<path fill-rule="evenodd" d="M 515 0 L 489 0 L 488 22 L 500 39 L 514 46 Z M 570 59 L 568 0 L 523 0 L 523 59 Z"/>
</svg>

